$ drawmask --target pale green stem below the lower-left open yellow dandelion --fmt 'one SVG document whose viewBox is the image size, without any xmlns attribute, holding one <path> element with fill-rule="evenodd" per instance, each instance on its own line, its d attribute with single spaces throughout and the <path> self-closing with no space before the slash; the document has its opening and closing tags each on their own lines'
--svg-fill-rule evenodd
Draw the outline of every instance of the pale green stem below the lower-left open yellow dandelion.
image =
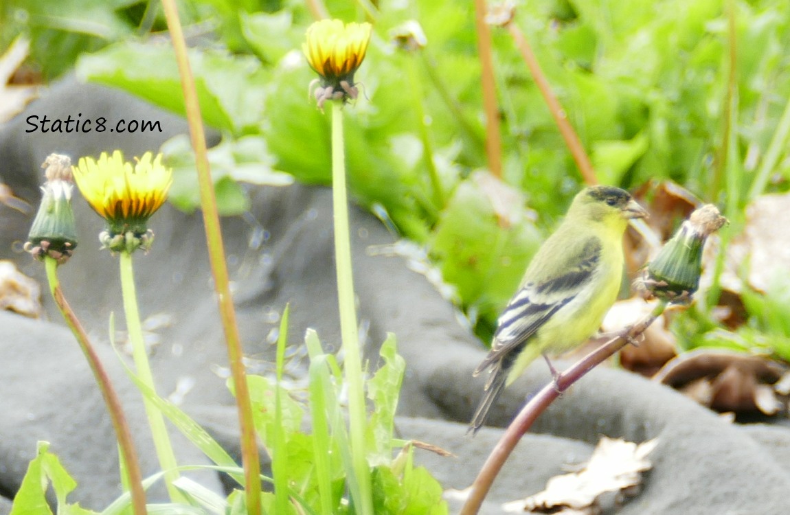
<svg viewBox="0 0 790 515">
<path fill-rule="evenodd" d="M 140 313 L 137 310 L 137 291 L 134 288 L 132 254 L 123 251 L 120 262 L 123 311 L 126 314 L 126 332 L 129 334 L 129 341 L 132 345 L 134 367 L 141 382 L 145 383 L 152 392 L 156 393 L 148 352 L 145 351 Z M 178 463 L 175 461 L 170 436 L 167 434 L 167 427 L 164 425 L 164 416 L 156 408 L 156 404 L 153 404 L 148 397 L 143 396 L 143 404 L 145 404 L 145 414 L 148 415 L 149 425 L 151 426 L 153 445 L 156 448 L 156 456 L 159 457 L 159 463 L 164 472 L 164 484 L 167 487 L 170 498 L 173 502 L 186 502 L 186 498 L 173 486 L 173 481 L 179 478 Z"/>
</svg>

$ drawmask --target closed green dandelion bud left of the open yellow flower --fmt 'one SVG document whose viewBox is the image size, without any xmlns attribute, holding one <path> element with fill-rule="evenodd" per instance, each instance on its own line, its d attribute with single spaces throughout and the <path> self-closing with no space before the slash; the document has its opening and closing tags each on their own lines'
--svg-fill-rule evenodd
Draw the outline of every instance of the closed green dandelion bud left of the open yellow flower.
<svg viewBox="0 0 790 515">
<path fill-rule="evenodd" d="M 64 263 L 77 248 L 77 227 L 71 209 L 74 184 L 70 166 L 70 158 L 59 154 L 51 154 L 42 165 L 47 168 L 47 181 L 41 187 L 39 211 L 30 227 L 28 242 L 24 244 L 24 250 L 36 258 L 49 256 L 58 263 Z"/>
</svg>

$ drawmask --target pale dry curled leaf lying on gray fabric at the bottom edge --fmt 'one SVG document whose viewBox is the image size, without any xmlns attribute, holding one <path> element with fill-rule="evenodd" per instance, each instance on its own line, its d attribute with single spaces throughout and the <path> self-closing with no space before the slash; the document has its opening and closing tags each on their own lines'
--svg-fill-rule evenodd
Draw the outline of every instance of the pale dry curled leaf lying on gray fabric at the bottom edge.
<svg viewBox="0 0 790 515">
<path fill-rule="evenodd" d="M 510 513 L 596 513 L 601 494 L 623 493 L 641 484 L 641 472 L 653 467 L 647 456 L 656 445 L 655 438 L 636 444 L 603 437 L 580 471 L 555 476 L 546 490 L 503 508 Z"/>
</svg>

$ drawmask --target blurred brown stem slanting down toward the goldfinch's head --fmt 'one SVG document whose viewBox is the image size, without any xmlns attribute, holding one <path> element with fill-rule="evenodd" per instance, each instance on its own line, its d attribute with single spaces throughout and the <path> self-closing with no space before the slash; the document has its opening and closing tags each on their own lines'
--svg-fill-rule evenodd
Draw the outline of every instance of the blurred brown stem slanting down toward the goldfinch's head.
<svg viewBox="0 0 790 515">
<path fill-rule="evenodd" d="M 568 121 L 568 115 L 566 115 L 565 110 L 562 109 L 562 105 L 559 103 L 559 100 L 557 100 L 554 92 L 551 91 L 551 85 L 549 85 L 543 70 L 540 69 L 540 63 L 535 57 L 534 52 L 532 52 L 532 47 L 529 46 L 524 34 L 515 24 L 512 22 L 508 23 L 507 29 L 510 31 L 510 35 L 513 36 L 516 47 L 521 51 L 521 57 L 523 57 L 524 61 L 527 63 L 529 73 L 532 73 L 532 78 L 535 80 L 538 89 L 540 89 L 540 94 L 543 95 L 548 109 L 551 111 L 551 116 L 554 117 L 554 121 L 559 127 L 559 133 L 562 134 L 562 139 L 565 140 L 565 144 L 568 146 L 568 150 L 570 150 L 570 155 L 574 157 L 576 166 L 579 167 L 581 179 L 589 186 L 597 184 L 598 179 L 596 178 L 595 170 L 592 168 L 592 163 L 587 156 L 587 152 L 585 152 L 584 145 L 581 145 L 581 140 L 574 130 L 574 127 L 571 126 Z"/>
</svg>

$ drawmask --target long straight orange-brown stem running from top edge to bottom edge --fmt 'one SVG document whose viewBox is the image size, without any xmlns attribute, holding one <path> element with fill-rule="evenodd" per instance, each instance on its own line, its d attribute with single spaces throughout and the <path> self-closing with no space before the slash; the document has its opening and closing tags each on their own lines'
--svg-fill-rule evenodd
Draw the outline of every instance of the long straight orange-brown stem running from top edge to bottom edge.
<svg viewBox="0 0 790 515">
<path fill-rule="evenodd" d="M 258 457 L 258 440 L 250 401 L 250 389 L 246 382 L 246 369 L 243 363 L 243 349 L 239 327 L 236 325 L 236 313 L 231 297 L 228 264 L 225 262 L 225 250 L 220 231 L 220 216 L 216 210 L 216 194 L 211 179 L 208 150 L 205 146 L 205 133 L 201 119 L 198 90 L 195 88 L 189 58 L 186 55 L 186 40 L 179 21 L 179 11 L 175 0 L 162 0 L 167 29 L 170 31 L 175 58 L 179 63 L 181 87 L 184 92 L 186 120 L 190 126 L 190 140 L 195 152 L 195 167 L 198 169 L 200 185 L 201 211 L 205 226 L 206 242 L 209 246 L 209 262 L 214 277 L 217 302 L 220 306 L 220 318 L 225 333 L 225 344 L 228 347 L 228 362 L 233 377 L 236 406 L 239 410 L 239 427 L 241 427 L 241 448 L 244 464 L 244 495 L 247 513 L 261 513 L 261 461 Z"/>
</svg>

